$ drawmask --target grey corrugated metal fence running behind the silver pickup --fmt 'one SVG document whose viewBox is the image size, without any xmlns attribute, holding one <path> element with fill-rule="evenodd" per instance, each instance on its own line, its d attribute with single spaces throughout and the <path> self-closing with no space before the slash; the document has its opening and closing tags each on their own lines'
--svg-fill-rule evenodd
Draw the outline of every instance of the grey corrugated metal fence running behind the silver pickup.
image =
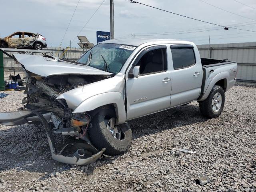
<svg viewBox="0 0 256 192">
<path fill-rule="evenodd" d="M 238 74 L 237 79 L 241 81 L 256 82 L 256 42 L 249 43 L 230 43 L 230 44 L 210 44 L 197 46 L 201 57 L 225 59 L 237 61 Z M 65 52 L 65 48 L 58 51 L 57 47 L 44 48 L 48 55 L 53 54 L 61 58 L 69 60 L 77 60 L 86 51 L 81 48 L 71 48 Z M 58 52 L 57 52 L 58 51 Z M 51 53 L 50 53 L 51 52 Z M 8 52 L 13 54 L 14 52 Z M 43 53 L 33 53 L 34 55 L 42 55 Z M 18 67 L 14 60 L 4 55 L 4 68 Z"/>
</svg>

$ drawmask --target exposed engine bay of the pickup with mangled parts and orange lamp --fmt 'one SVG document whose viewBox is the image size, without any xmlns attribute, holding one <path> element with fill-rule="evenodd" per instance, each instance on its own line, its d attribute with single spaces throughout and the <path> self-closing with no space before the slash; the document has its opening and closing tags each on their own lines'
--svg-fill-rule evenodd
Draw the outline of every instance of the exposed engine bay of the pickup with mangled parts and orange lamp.
<svg viewBox="0 0 256 192">
<path fill-rule="evenodd" d="M 55 129 L 76 128 L 76 131 L 81 132 L 80 127 L 88 126 L 90 115 L 72 114 L 72 109 L 68 108 L 65 100 L 56 98 L 64 92 L 105 78 L 107 77 L 92 75 L 58 75 L 45 78 L 30 74 L 24 92 L 27 96 L 22 100 L 22 104 L 25 104 L 27 109 L 52 112 L 55 116 Z"/>
</svg>

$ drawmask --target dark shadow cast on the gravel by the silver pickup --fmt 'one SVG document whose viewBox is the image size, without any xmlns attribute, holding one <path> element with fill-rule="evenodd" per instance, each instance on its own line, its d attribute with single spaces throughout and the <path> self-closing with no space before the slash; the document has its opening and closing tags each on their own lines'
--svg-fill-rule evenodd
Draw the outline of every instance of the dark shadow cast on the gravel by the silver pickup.
<svg viewBox="0 0 256 192">
<path fill-rule="evenodd" d="M 179 106 L 170 110 L 152 114 L 129 121 L 133 137 L 140 138 L 145 134 L 154 134 L 161 130 L 177 128 L 198 122 L 207 121 L 200 114 L 198 103 Z M 58 136 L 59 137 L 59 136 Z M 61 136 L 60 136 L 61 137 Z M 65 143 L 65 139 L 58 139 L 58 144 Z M 62 146 L 63 143 L 61 144 Z M 48 178 L 52 172 L 72 170 L 67 164 L 54 161 L 51 158 L 46 133 L 42 125 L 20 125 L 0 130 L 0 172 L 14 169 L 21 174 L 39 176 L 40 180 Z M 95 168 L 109 163 L 100 160 L 86 166 L 83 175 L 93 174 Z M 79 172 L 79 170 L 77 170 Z"/>
</svg>

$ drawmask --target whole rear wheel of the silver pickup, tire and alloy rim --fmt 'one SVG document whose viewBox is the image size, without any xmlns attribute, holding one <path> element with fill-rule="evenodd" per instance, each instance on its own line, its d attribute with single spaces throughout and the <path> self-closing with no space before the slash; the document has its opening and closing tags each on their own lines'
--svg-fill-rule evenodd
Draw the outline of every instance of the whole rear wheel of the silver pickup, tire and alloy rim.
<svg viewBox="0 0 256 192">
<path fill-rule="evenodd" d="M 225 93 L 223 88 L 221 86 L 214 85 L 207 99 L 199 103 L 200 112 L 205 117 L 216 118 L 220 116 L 224 107 L 224 102 Z"/>
</svg>

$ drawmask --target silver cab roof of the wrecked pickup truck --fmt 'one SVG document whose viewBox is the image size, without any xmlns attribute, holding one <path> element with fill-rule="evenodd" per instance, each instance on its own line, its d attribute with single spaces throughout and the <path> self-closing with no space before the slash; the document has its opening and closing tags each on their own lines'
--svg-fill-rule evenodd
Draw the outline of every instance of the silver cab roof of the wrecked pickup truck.
<svg viewBox="0 0 256 192">
<path fill-rule="evenodd" d="M 106 40 L 102 43 L 113 43 L 113 44 L 123 44 L 123 45 L 131 45 L 131 46 L 140 46 L 144 43 L 182 43 L 182 44 L 193 44 L 189 41 L 184 40 L 176 40 L 176 39 L 157 39 L 157 38 L 130 38 L 130 39 L 112 39 L 112 40 Z"/>
</svg>

